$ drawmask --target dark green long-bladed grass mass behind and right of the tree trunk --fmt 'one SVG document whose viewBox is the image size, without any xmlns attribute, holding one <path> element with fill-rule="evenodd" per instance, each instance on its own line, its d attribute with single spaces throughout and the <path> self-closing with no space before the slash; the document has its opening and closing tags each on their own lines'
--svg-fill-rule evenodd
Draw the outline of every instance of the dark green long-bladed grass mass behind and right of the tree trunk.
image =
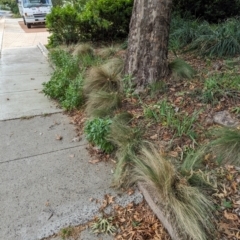
<svg viewBox="0 0 240 240">
<path fill-rule="evenodd" d="M 173 15 L 169 48 L 175 55 L 184 49 L 202 56 L 227 57 L 240 53 L 240 21 L 231 18 L 219 24 L 183 19 Z"/>
</svg>

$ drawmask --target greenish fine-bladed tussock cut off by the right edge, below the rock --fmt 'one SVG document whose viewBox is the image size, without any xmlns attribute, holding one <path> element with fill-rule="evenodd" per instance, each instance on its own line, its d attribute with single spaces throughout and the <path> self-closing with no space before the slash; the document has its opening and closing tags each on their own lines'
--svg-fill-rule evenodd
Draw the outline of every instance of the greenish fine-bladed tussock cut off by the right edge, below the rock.
<svg viewBox="0 0 240 240">
<path fill-rule="evenodd" d="M 212 131 L 214 140 L 209 147 L 220 163 L 240 165 L 240 130 L 221 127 Z"/>
</svg>

